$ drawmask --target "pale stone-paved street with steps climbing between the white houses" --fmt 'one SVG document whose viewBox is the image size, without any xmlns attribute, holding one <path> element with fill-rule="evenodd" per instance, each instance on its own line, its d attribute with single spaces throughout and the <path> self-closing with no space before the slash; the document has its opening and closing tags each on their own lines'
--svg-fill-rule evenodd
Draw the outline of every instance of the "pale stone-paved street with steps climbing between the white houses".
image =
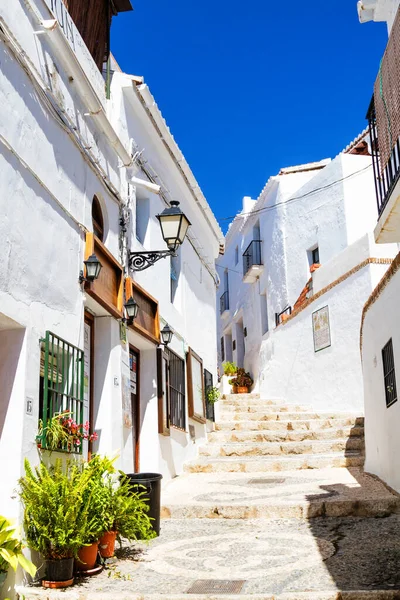
<svg viewBox="0 0 400 600">
<path fill-rule="evenodd" d="M 220 402 L 201 456 L 166 487 L 161 536 L 74 590 L 25 600 L 400 598 L 400 498 L 363 473 L 363 419 Z"/>
</svg>

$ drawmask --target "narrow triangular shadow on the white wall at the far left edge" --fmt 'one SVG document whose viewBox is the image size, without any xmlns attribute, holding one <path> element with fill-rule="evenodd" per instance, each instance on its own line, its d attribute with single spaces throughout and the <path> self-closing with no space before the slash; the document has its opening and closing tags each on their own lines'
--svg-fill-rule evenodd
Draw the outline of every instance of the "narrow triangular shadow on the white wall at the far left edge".
<svg viewBox="0 0 400 600">
<path fill-rule="evenodd" d="M 0 330 L 0 439 L 9 411 L 25 329 Z"/>
</svg>

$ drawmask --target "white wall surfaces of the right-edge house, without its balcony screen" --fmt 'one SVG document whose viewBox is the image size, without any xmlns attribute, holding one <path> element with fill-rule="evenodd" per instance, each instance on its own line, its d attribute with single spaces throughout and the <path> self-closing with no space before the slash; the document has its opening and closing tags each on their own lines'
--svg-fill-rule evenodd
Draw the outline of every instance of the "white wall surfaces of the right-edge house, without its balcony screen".
<svg viewBox="0 0 400 600">
<path fill-rule="evenodd" d="M 386 21 L 390 33 L 398 7 L 398 0 L 386 0 L 386 2 L 377 0 L 370 18 L 375 21 Z M 364 20 L 366 19 L 361 19 Z M 397 175 L 396 170 L 394 175 Z M 379 242 L 389 238 L 397 242 L 397 247 L 400 243 L 398 206 L 398 186 L 394 186 L 388 195 L 386 205 L 382 207 L 375 228 L 375 236 Z M 392 267 L 369 297 L 364 308 L 361 327 L 365 468 L 370 473 L 378 475 L 398 492 L 400 491 L 398 469 L 400 407 L 397 401 L 400 385 L 399 264 L 400 255 L 397 255 Z"/>
</svg>

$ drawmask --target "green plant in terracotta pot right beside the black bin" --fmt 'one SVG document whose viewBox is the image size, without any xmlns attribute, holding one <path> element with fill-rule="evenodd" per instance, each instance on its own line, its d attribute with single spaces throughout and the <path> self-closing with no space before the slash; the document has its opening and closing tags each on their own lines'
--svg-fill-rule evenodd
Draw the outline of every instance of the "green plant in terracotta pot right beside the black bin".
<svg viewBox="0 0 400 600">
<path fill-rule="evenodd" d="M 103 510 L 104 534 L 99 541 L 99 550 L 103 558 L 110 558 L 114 555 L 117 538 L 120 542 L 122 538 L 150 540 L 156 534 L 147 515 L 149 507 L 142 498 L 145 492 L 133 492 L 130 480 L 120 471 L 109 473 L 104 481 L 108 500 Z"/>
</svg>

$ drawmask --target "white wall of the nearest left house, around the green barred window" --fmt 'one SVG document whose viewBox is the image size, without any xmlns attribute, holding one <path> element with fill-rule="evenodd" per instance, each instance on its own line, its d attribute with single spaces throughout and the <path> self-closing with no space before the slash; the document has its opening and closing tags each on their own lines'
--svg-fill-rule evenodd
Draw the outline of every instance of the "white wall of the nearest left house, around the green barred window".
<svg viewBox="0 0 400 600">
<path fill-rule="evenodd" d="M 51 16 L 46 3 L 36 0 L 32 6 L 44 18 Z M 75 127 L 82 144 L 91 148 L 92 157 L 108 173 L 110 185 L 119 187 L 120 172 L 114 150 L 85 115 L 87 109 L 49 39 L 34 35 L 39 28 L 35 12 L 24 3 L 7 2 L 0 6 L 0 17 L 4 29 L 15 38 L 16 48 L 29 57 L 28 71 L 31 69 L 39 86 L 50 89 L 49 98 L 65 116 L 61 124 L 10 46 L 0 40 L 0 345 L 3 355 L 8 344 L 13 349 L 1 361 L 1 381 L 7 378 L 8 385 L 0 386 L 0 461 L 8 467 L 0 513 L 8 515 L 19 510 L 11 496 L 23 457 L 33 462 L 39 458 L 35 436 L 40 339 L 50 330 L 83 348 L 85 296 L 78 276 L 83 266 L 84 229 L 92 230 L 95 194 L 105 217 L 105 244 L 119 257 L 118 201 L 105 187 L 90 156 L 73 142 L 68 125 Z M 33 69 L 37 71 L 34 74 Z M 92 308 L 96 312 L 96 306 Z M 114 371 L 110 369 L 110 377 Z M 113 402 L 117 391 L 109 392 L 108 402 Z M 28 400 L 31 414 L 26 411 Z M 9 460 L 10 453 L 13 460 Z"/>
</svg>

